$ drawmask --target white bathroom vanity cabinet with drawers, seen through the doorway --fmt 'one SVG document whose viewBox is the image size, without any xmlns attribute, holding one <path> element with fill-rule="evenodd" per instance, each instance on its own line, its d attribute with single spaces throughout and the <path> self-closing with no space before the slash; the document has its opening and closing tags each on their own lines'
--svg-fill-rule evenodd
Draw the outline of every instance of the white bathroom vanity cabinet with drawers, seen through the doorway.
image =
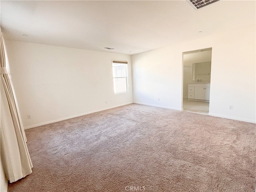
<svg viewBox="0 0 256 192">
<path fill-rule="evenodd" d="M 210 83 L 188 84 L 188 100 L 209 102 Z"/>
</svg>

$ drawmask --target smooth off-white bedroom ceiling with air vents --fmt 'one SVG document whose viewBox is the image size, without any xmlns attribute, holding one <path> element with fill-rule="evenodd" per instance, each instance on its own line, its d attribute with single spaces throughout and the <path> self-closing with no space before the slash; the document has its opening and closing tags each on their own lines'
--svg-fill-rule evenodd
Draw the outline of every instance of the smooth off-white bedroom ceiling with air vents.
<svg viewBox="0 0 256 192">
<path fill-rule="evenodd" d="M 1 0 L 0 6 L 6 39 L 122 54 L 255 25 L 256 14 L 254 0 L 220 0 L 199 10 L 185 0 Z"/>
</svg>

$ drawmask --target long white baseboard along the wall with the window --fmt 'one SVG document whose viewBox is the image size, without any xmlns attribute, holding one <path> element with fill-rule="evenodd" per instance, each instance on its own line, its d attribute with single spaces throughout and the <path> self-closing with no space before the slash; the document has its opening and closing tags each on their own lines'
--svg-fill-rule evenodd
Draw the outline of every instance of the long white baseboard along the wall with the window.
<svg viewBox="0 0 256 192">
<path fill-rule="evenodd" d="M 47 124 L 50 124 L 50 123 L 55 123 L 55 122 L 59 122 L 59 121 L 67 120 L 67 119 L 72 119 L 72 118 L 75 118 L 75 117 L 88 115 L 88 114 L 91 114 L 91 113 L 96 113 L 96 112 L 99 112 L 99 111 L 104 111 L 104 110 L 108 110 L 108 109 L 112 109 L 112 108 L 116 108 L 116 107 L 120 107 L 120 106 L 124 106 L 124 105 L 128 105 L 128 104 L 132 104 L 132 103 L 133 102 L 128 102 L 128 103 L 124 103 L 124 104 L 120 104 L 120 105 L 115 105 L 115 106 L 106 107 L 106 108 L 102 108 L 102 109 L 98 109 L 98 110 L 94 110 L 94 111 L 89 111 L 89 112 L 86 112 L 86 113 L 72 115 L 72 116 L 69 116 L 69 117 L 64 117 L 64 118 L 51 120 L 51 121 L 47 121 L 47 122 L 43 122 L 43 123 L 39 123 L 39 124 L 34 124 L 34 125 L 26 126 L 26 127 L 24 127 L 24 129 L 30 129 L 30 128 L 34 128 L 34 127 L 38 127 L 38 126 L 42 126 L 42 125 L 47 125 Z"/>
</svg>

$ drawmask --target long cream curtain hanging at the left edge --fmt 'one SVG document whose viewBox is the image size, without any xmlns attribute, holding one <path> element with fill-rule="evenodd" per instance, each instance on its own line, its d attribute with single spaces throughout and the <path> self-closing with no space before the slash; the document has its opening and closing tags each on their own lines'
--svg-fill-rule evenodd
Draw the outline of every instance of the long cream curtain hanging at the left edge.
<svg viewBox="0 0 256 192">
<path fill-rule="evenodd" d="M 0 150 L 6 178 L 11 183 L 30 174 L 32 162 L 26 145 L 26 136 L 11 81 L 1 30 L 0 43 Z"/>
</svg>

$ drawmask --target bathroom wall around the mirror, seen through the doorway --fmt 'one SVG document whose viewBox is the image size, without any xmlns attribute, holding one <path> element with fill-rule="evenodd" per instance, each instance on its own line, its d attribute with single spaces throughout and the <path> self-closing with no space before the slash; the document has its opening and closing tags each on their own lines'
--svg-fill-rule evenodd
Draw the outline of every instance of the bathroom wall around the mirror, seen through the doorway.
<svg viewBox="0 0 256 192">
<path fill-rule="evenodd" d="M 183 98 L 188 98 L 188 84 L 196 82 L 192 79 L 193 63 L 212 60 L 212 50 L 183 55 Z M 202 80 L 202 82 L 210 82 Z"/>
</svg>

